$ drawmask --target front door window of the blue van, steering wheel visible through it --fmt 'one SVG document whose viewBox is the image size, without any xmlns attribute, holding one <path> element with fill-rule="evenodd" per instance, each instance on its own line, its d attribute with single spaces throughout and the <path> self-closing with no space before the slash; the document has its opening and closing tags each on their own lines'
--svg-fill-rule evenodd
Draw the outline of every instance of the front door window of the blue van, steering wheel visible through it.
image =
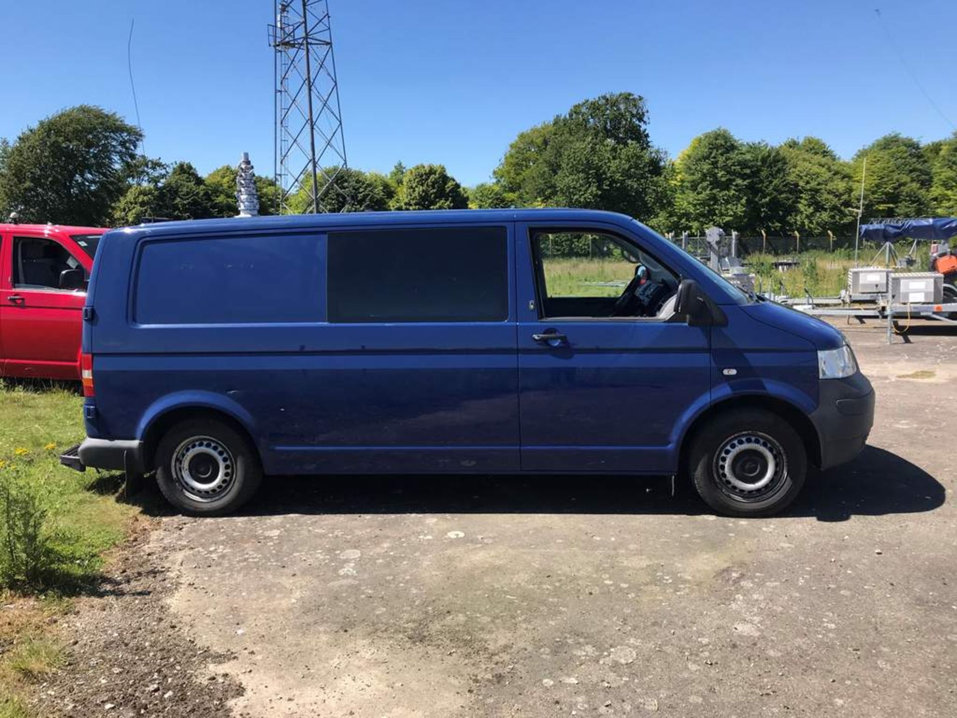
<svg viewBox="0 0 957 718">
<path fill-rule="evenodd" d="M 667 319 L 678 277 L 630 242 L 602 232 L 533 230 L 544 318 Z"/>
</svg>

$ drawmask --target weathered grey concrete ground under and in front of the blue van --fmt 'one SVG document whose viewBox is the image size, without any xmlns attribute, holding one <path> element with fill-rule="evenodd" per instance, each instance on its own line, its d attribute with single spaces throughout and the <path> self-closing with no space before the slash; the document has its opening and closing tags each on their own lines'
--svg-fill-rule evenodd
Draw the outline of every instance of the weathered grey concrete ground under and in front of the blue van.
<svg viewBox="0 0 957 718">
<path fill-rule="evenodd" d="M 238 715 L 957 715 L 957 332 L 840 326 L 876 426 L 783 517 L 665 481 L 277 479 L 162 520 L 175 618 L 234 654 Z"/>
</svg>

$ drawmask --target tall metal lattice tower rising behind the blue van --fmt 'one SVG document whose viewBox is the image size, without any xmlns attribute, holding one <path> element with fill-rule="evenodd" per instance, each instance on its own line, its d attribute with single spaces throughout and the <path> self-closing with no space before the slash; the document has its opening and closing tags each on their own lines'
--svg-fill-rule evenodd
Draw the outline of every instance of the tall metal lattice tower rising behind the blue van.
<svg viewBox="0 0 957 718">
<path fill-rule="evenodd" d="M 332 52 L 328 0 L 276 0 L 276 184 L 279 212 L 327 212 L 341 206 L 345 169 L 343 115 Z M 303 192 L 306 206 L 294 207 Z"/>
</svg>

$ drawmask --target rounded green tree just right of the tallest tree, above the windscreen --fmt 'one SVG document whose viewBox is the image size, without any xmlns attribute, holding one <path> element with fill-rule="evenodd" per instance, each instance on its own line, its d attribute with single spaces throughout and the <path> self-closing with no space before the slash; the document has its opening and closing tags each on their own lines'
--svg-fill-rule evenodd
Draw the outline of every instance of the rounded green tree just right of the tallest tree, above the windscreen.
<svg viewBox="0 0 957 718">
<path fill-rule="evenodd" d="M 745 146 L 724 128 L 692 140 L 675 163 L 680 225 L 698 233 L 711 226 L 744 229 L 752 167 Z"/>
</svg>

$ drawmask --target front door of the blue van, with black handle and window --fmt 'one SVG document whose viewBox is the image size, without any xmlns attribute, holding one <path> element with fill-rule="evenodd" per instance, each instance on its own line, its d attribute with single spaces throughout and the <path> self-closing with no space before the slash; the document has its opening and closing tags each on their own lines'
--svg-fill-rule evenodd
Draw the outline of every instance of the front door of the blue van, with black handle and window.
<svg viewBox="0 0 957 718">
<path fill-rule="evenodd" d="M 599 225 L 516 236 L 523 470 L 675 471 L 710 397 L 708 327 L 668 321 L 679 277 Z"/>
</svg>

